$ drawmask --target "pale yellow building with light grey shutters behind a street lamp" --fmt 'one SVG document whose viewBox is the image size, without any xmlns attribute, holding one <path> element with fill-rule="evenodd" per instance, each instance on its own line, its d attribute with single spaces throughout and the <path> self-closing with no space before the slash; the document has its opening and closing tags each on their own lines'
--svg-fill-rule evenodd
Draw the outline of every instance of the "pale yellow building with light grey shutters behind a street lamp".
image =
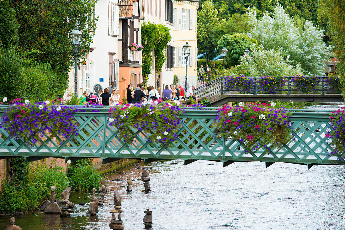
<svg viewBox="0 0 345 230">
<path fill-rule="evenodd" d="M 188 87 L 197 82 L 197 9 L 200 7 L 200 1 L 196 0 L 178 0 L 173 1 L 173 46 L 174 46 L 174 74 L 179 77 L 179 83 L 185 86 L 186 76 L 186 58 L 182 47 L 188 40 L 190 54 L 187 63 Z"/>
</svg>

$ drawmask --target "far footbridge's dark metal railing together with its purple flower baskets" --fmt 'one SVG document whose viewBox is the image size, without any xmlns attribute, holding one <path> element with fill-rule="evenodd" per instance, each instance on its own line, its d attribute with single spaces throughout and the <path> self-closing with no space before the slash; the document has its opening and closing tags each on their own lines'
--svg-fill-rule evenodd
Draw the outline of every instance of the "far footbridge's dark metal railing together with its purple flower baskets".
<svg viewBox="0 0 345 230">
<path fill-rule="evenodd" d="M 247 79 L 246 84 L 239 84 Z M 195 89 L 198 97 L 225 94 L 229 91 L 249 94 L 341 94 L 329 77 L 219 77 Z M 237 83 L 237 84 L 236 84 Z"/>
</svg>

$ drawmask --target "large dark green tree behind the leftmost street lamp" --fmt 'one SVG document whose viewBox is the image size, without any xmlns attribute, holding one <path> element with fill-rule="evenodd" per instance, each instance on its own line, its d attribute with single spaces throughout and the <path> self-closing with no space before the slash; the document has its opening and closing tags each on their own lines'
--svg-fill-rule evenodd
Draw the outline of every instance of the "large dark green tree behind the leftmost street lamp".
<svg viewBox="0 0 345 230">
<path fill-rule="evenodd" d="M 96 19 L 88 17 L 95 2 L 96 0 L 11 0 L 20 25 L 19 48 L 23 51 L 41 51 L 35 57 L 37 61 L 51 62 L 53 68 L 69 71 L 74 64 L 69 33 L 75 25 L 82 31 L 78 57 L 83 57 L 90 48 L 91 37 L 96 29 Z"/>
</svg>

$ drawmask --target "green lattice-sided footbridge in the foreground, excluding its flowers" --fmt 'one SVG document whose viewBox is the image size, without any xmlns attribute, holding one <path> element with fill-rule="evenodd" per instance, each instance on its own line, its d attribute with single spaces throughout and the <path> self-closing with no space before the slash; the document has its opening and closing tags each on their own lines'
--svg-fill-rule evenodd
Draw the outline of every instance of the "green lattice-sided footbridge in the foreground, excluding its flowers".
<svg viewBox="0 0 345 230">
<path fill-rule="evenodd" d="M 140 132 L 131 144 L 124 143 L 117 137 L 117 130 L 109 126 L 109 108 L 83 108 L 74 113 L 79 123 L 79 136 L 61 140 L 58 136 L 47 136 L 34 146 L 10 139 L 7 132 L 0 128 L 0 158 L 14 156 L 26 157 L 27 161 L 47 157 L 78 160 L 81 158 L 101 158 L 103 163 L 121 158 L 142 159 L 145 163 L 164 159 L 183 159 L 185 164 L 196 160 L 223 162 L 228 166 L 234 162 L 261 161 L 266 168 L 275 162 L 306 165 L 309 169 L 315 165 L 345 164 L 345 160 L 336 155 L 334 146 L 325 137 L 329 127 L 330 111 L 292 110 L 293 133 L 295 140 L 284 144 L 279 149 L 259 148 L 245 152 L 245 145 L 234 139 L 216 137 L 212 126 L 217 108 L 201 110 L 187 109 L 180 115 L 184 121 L 179 130 L 179 138 L 169 145 L 149 143 L 148 133 Z"/>
</svg>

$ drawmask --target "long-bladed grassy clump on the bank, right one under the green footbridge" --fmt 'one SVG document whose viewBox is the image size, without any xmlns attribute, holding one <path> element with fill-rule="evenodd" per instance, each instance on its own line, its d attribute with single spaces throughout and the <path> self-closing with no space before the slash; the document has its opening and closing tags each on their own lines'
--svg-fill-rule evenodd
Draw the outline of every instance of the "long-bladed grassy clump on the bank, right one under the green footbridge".
<svg viewBox="0 0 345 230">
<path fill-rule="evenodd" d="M 76 161 L 68 167 L 67 176 L 70 186 L 77 192 L 91 192 L 101 186 L 102 176 L 92 165 L 91 159 Z"/>
</svg>

